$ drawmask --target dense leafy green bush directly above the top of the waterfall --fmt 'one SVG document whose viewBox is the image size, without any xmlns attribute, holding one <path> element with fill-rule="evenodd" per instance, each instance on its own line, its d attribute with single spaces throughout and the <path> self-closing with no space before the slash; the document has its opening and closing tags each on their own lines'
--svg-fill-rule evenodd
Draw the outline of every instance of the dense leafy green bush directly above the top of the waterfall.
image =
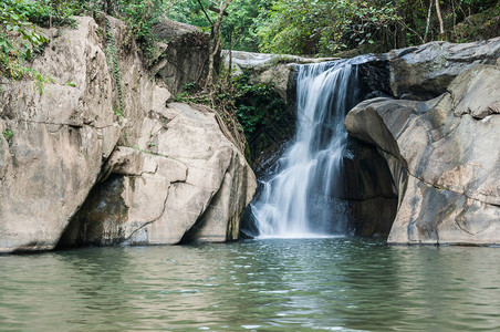
<svg viewBox="0 0 500 332">
<path fill-rule="evenodd" d="M 374 43 L 397 21 L 396 9 L 387 1 L 277 0 L 258 30 L 260 49 L 331 55 Z"/>
</svg>

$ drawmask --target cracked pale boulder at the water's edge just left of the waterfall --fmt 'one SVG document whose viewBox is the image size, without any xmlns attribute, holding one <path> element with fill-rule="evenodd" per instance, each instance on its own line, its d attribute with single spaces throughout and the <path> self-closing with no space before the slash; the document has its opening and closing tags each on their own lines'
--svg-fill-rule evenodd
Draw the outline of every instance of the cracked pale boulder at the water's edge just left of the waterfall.
<svg viewBox="0 0 500 332">
<path fill-rule="evenodd" d="M 158 89 L 157 97 L 162 95 Z M 244 157 L 210 110 L 156 105 L 144 118 L 138 145 L 113 153 L 102 184 L 61 245 L 238 239 L 241 211 L 256 189 Z"/>
</svg>

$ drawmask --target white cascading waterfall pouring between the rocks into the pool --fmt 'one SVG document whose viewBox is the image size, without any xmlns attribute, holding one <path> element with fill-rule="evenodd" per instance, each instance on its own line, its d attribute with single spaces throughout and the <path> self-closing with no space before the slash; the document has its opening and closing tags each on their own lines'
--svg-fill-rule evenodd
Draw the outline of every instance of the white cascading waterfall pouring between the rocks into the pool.
<svg viewBox="0 0 500 332">
<path fill-rule="evenodd" d="M 345 114 L 360 101 L 360 61 L 299 66 L 296 135 L 251 204 L 260 237 L 347 231 L 347 204 L 337 198 L 338 170 L 347 143 Z"/>
</svg>

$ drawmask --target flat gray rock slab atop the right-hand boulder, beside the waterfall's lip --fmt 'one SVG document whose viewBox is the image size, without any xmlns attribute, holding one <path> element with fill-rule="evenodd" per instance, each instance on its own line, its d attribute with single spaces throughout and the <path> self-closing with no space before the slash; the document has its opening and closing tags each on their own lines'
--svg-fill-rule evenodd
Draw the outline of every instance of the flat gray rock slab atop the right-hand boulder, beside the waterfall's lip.
<svg viewBox="0 0 500 332">
<path fill-rule="evenodd" d="M 494 64 L 500 38 L 465 44 L 430 42 L 394 50 L 389 56 L 393 94 L 424 101 L 445 93 L 457 75 L 476 64 Z"/>
</svg>

